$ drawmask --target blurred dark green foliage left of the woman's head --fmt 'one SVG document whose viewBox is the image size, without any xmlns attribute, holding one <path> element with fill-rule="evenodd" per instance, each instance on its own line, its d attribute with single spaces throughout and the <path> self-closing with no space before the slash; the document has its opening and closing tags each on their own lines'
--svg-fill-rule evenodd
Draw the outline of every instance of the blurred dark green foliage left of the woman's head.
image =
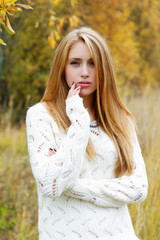
<svg viewBox="0 0 160 240">
<path fill-rule="evenodd" d="M 3 39 L 7 42 L 7 47 L 1 46 L 0 52 L 3 48 L 1 74 L 5 94 L 3 98 L 1 95 L 0 101 L 3 106 L 7 106 L 12 96 L 16 120 L 24 115 L 26 100 L 30 101 L 30 105 L 40 100 L 53 57 L 52 49 L 69 27 L 73 27 L 73 24 L 74 27 L 78 26 L 77 18 L 72 16 L 76 2 L 63 1 L 60 6 L 59 2 L 32 2 L 32 12 L 25 12 L 23 16 L 16 14 L 12 19 L 16 34 L 3 34 Z"/>
</svg>

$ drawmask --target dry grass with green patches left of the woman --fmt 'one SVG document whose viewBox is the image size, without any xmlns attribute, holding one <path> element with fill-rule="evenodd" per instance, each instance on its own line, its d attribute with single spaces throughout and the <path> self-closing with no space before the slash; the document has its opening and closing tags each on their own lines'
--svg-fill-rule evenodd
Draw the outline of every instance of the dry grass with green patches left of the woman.
<svg viewBox="0 0 160 240">
<path fill-rule="evenodd" d="M 37 196 L 25 126 L 0 131 L 0 239 L 37 239 Z"/>
</svg>

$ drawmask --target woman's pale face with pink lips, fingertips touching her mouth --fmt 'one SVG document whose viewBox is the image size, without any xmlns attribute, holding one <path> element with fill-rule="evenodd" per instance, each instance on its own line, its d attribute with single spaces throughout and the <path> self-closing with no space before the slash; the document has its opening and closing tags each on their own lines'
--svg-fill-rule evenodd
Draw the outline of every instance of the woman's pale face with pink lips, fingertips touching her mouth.
<svg viewBox="0 0 160 240">
<path fill-rule="evenodd" d="M 81 87 L 81 97 L 91 96 L 97 88 L 94 62 L 83 41 L 76 42 L 68 54 L 65 78 L 69 87 L 73 82 Z"/>
</svg>

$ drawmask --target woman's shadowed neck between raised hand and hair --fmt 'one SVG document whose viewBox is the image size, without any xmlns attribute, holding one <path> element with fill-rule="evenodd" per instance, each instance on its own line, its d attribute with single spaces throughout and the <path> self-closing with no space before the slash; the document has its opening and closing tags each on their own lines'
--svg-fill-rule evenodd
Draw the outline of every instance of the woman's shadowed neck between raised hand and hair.
<svg viewBox="0 0 160 240">
<path fill-rule="evenodd" d="M 88 113 L 90 115 L 91 122 L 96 120 L 93 96 L 83 97 L 83 104 L 84 104 L 84 107 L 88 109 Z"/>
</svg>

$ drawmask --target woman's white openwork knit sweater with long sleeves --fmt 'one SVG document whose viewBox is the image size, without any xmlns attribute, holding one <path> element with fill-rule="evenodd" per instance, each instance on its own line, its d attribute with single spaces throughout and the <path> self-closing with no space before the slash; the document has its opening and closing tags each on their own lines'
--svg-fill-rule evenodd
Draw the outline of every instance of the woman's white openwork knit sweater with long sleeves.
<svg viewBox="0 0 160 240">
<path fill-rule="evenodd" d="M 128 203 L 143 201 L 147 176 L 134 132 L 131 176 L 116 178 L 113 141 L 92 122 L 78 95 L 66 100 L 67 134 L 42 103 L 27 112 L 30 163 L 37 183 L 40 240 L 137 240 Z M 86 155 L 89 138 L 97 159 Z M 49 149 L 55 149 L 54 155 Z"/>
</svg>

